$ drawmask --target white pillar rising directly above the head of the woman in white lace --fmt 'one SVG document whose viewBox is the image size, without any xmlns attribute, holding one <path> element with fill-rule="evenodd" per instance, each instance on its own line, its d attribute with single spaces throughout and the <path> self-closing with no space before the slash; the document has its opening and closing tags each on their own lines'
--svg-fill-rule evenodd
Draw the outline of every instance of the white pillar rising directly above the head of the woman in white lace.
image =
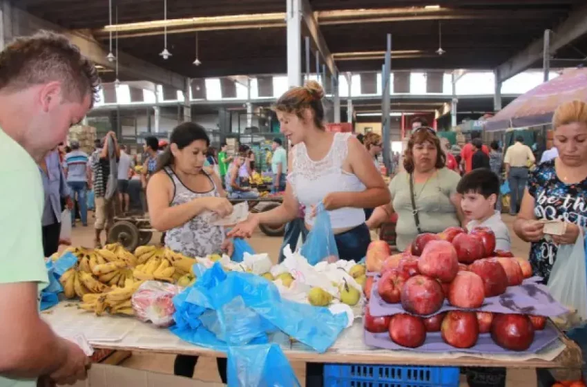
<svg viewBox="0 0 587 387">
<path fill-rule="evenodd" d="M 300 0 L 287 2 L 287 82 L 302 86 L 302 6 Z"/>
</svg>

